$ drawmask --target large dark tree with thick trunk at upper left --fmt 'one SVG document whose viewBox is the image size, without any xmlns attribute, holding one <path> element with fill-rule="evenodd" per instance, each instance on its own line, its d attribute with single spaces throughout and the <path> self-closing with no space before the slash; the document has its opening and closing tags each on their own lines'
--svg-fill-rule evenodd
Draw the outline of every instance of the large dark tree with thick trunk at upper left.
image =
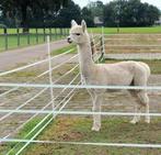
<svg viewBox="0 0 161 155">
<path fill-rule="evenodd" d="M 8 18 L 20 18 L 21 26 L 28 26 L 28 19 L 35 15 L 34 9 L 41 9 L 42 13 L 57 12 L 60 5 L 67 4 L 68 0 L 0 0 L 3 15 Z M 50 11 L 53 10 L 53 11 Z M 42 21 L 43 22 L 43 21 Z"/>
</svg>

